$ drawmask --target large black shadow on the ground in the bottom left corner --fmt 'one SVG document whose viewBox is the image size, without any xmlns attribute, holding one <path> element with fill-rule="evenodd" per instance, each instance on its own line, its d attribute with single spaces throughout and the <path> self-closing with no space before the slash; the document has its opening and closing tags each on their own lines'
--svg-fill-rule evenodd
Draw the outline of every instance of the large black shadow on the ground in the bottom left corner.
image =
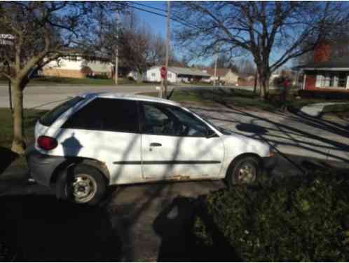
<svg viewBox="0 0 349 263">
<path fill-rule="evenodd" d="M 118 261 L 121 241 L 107 211 L 54 196 L 0 198 L 0 238 L 16 260 Z"/>
</svg>

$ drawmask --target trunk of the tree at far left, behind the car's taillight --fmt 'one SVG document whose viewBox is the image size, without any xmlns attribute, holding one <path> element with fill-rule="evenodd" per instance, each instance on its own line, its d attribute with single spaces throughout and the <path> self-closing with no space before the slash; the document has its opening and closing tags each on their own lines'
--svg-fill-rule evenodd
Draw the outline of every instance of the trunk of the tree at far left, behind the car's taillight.
<svg viewBox="0 0 349 263">
<path fill-rule="evenodd" d="M 20 82 L 13 83 L 13 91 L 13 142 L 11 149 L 18 154 L 24 154 L 23 90 Z"/>
</svg>

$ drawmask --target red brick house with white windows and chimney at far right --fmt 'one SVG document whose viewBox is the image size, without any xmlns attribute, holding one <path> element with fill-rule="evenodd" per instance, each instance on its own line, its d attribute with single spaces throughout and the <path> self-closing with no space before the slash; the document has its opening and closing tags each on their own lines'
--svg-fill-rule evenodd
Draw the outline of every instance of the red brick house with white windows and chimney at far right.
<svg viewBox="0 0 349 263">
<path fill-rule="evenodd" d="M 331 58 L 331 46 L 322 43 L 314 50 L 314 62 L 299 67 L 303 70 L 304 90 L 349 92 L 349 55 Z"/>
</svg>

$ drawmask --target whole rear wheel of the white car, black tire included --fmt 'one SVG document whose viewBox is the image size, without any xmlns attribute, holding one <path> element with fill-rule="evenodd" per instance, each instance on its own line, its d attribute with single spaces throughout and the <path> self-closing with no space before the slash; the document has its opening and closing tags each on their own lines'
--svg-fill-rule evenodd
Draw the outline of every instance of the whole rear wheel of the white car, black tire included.
<svg viewBox="0 0 349 263">
<path fill-rule="evenodd" d="M 93 166 L 70 166 L 57 181 L 57 197 L 73 203 L 96 205 L 107 190 L 106 177 Z"/>
</svg>

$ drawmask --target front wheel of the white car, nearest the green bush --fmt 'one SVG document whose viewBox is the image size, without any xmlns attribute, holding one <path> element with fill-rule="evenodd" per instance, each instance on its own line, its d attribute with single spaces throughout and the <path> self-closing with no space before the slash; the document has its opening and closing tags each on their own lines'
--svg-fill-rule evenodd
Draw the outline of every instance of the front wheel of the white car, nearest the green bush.
<svg viewBox="0 0 349 263">
<path fill-rule="evenodd" d="M 249 168 L 249 169 L 247 169 Z M 250 171 L 249 174 L 247 171 Z M 255 156 L 245 156 L 231 163 L 226 174 L 229 188 L 238 184 L 253 184 L 261 175 L 261 161 Z"/>
</svg>

